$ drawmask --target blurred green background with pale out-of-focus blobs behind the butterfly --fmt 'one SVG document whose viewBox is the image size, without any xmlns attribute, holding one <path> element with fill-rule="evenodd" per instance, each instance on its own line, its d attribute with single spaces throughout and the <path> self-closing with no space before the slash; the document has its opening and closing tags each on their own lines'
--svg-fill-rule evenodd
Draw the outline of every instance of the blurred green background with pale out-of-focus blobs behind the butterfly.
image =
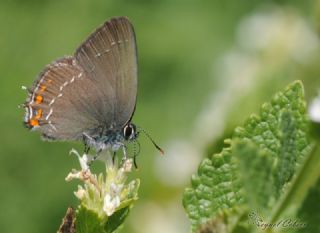
<svg viewBox="0 0 320 233">
<path fill-rule="evenodd" d="M 78 167 L 71 148 L 49 143 L 22 125 L 26 93 L 52 60 L 72 54 L 98 25 L 128 16 L 139 51 L 134 122 L 166 151 L 141 136 L 140 199 L 122 232 L 188 232 L 184 187 L 204 156 L 258 107 L 295 79 L 308 100 L 320 84 L 317 1 L 261 0 L 1 0 L 0 229 L 56 232 L 76 206 Z M 210 146 L 209 146 L 210 145 Z M 95 165 L 99 167 L 99 164 Z M 99 169 L 99 168 L 97 168 Z"/>
</svg>

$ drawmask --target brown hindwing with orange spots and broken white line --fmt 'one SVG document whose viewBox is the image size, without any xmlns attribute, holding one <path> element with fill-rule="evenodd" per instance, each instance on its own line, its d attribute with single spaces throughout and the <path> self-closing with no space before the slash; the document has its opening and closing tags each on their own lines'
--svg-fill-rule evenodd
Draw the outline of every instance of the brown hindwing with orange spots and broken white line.
<svg viewBox="0 0 320 233">
<path fill-rule="evenodd" d="M 25 103 L 25 125 L 45 138 L 79 140 L 103 120 L 104 95 L 73 57 L 49 64 L 35 81 Z M 93 108 L 92 106 L 97 106 Z"/>
</svg>

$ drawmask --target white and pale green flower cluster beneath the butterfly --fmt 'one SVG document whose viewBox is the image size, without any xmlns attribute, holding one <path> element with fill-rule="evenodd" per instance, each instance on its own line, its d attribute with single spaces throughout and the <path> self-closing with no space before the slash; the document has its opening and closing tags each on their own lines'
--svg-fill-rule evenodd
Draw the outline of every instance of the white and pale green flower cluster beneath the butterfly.
<svg viewBox="0 0 320 233">
<path fill-rule="evenodd" d="M 66 181 L 78 179 L 83 185 L 78 186 L 75 196 L 81 201 L 81 206 L 92 210 L 99 217 L 106 218 L 116 211 L 130 206 L 137 199 L 139 180 L 126 184 L 127 175 L 132 170 L 132 159 L 124 160 L 119 166 L 112 161 L 110 154 L 101 154 L 99 160 L 106 165 L 106 173 L 94 174 L 90 170 L 93 157 L 87 154 L 80 155 L 76 150 L 71 150 L 80 162 L 81 170 L 73 169 Z"/>
</svg>

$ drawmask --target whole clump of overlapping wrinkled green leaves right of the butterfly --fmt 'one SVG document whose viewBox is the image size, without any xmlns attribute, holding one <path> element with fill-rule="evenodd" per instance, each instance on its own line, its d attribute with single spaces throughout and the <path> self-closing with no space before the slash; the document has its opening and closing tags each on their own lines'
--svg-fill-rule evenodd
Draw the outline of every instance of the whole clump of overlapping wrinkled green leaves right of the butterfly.
<svg viewBox="0 0 320 233">
<path fill-rule="evenodd" d="M 193 232 L 222 211 L 231 218 L 237 209 L 245 219 L 247 210 L 257 210 L 266 220 L 283 212 L 287 205 L 279 202 L 311 150 L 305 112 L 303 86 L 296 81 L 236 128 L 230 147 L 203 160 L 183 197 Z"/>
</svg>

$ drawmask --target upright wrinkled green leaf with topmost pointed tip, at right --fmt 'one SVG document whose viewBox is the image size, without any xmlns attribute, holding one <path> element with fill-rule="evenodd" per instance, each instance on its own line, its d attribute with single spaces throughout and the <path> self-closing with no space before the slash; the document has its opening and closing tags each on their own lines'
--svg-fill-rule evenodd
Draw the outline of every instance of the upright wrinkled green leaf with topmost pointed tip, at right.
<svg viewBox="0 0 320 233">
<path fill-rule="evenodd" d="M 303 86 L 296 81 L 276 94 L 271 103 L 263 104 L 258 116 L 251 116 L 243 128 L 235 131 L 234 138 L 252 142 L 269 157 L 266 166 L 272 166 L 273 177 L 268 182 L 274 182 L 273 188 L 265 190 L 270 196 L 269 205 L 273 205 L 272 198 L 278 199 L 283 193 L 302 157 L 310 152 L 305 112 Z"/>
</svg>

